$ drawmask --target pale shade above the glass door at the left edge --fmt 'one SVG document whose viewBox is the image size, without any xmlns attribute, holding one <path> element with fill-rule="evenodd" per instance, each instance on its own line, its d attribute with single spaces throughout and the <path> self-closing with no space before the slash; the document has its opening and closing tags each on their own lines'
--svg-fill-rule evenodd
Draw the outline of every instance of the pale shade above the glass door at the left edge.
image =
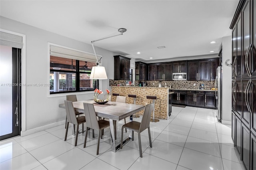
<svg viewBox="0 0 256 170">
<path fill-rule="evenodd" d="M 22 37 L 6 32 L 0 32 L 0 45 L 6 45 L 14 48 L 22 48 Z"/>
</svg>

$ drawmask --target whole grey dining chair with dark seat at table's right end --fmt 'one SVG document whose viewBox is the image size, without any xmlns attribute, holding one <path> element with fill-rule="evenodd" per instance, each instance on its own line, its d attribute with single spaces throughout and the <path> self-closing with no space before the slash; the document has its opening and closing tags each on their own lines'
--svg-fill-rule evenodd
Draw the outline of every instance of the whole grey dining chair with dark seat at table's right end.
<svg viewBox="0 0 256 170">
<path fill-rule="evenodd" d="M 150 118 L 151 113 L 153 109 L 153 103 L 148 104 L 145 106 L 144 114 L 142 116 L 141 123 L 136 121 L 131 121 L 129 123 L 126 123 L 122 126 L 122 132 L 121 132 L 121 146 L 120 149 L 123 147 L 123 131 L 124 128 L 128 128 L 132 130 L 132 140 L 134 140 L 134 131 L 138 133 L 139 138 L 139 149 L 140 149 L 140 157 L 142 158 L 142 150 L 141 150 L 141 140 L 140 140 L 140 133 L 144 131 L 146 128 L 148 128 L 148 137 L 149 137 L 149 144 L 150 148 L 152 148 L 152 142 L 151 142 L 151 135 L 150 135 Z"/>
</svg>

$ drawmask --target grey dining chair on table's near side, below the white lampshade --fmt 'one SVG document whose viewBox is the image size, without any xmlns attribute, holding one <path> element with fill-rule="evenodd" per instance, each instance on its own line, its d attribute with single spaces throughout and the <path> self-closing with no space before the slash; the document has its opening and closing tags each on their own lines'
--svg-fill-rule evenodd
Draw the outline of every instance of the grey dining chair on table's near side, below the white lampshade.
<svg viewBox="0 0 256 170">
<path fill-rule="evenodd" d="M 109 122 L 105 120 L 97 120 L 94 105 L 91 103 L 84 103 L 84 113 L 86 117 L 86 132 L 85 132 L 85 138 L 84 138 L 84 148 L 86 146 L 86 138 L 88 133 L 88 128 L 92 128 L 94 130 L 98 130 L 98 143 L 97 143 L 97 155 L 99 154 L 99 146 L 100 146 L 100 138 L 102 138 L 102 135 L 100 135 L 100 132 L 106 128 L 109 127 Z"/>
</svg>

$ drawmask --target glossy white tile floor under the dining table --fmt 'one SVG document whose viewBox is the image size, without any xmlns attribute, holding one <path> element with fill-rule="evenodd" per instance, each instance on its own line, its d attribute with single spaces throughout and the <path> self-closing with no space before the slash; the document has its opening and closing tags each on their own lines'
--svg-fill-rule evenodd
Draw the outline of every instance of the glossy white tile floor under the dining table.
<svg viewBox="0 0 256 170">
<path fill-rule="evenodd" d="M 117 140 L 123 123 L 117 124 Z M 84 148 L 85 134 L 79 134 L 75 147 L 71 128 L 64 141 L 64 125 L 18 136 L 0 142 L 0 170 L 244 170 L 231 138 L 231 126 L 219 123 L 215 110 L 172 107 L 170 119 L 150 122 L 150 130 L 152 148 L 148 131 L 141 133 L 143 158 L 139 156 L 137 133 L 134 141 L 112 152 L 109 128 L 100 140 L 98 155 L 97 135 L 92 138 L 89 132 Z"/>
</svg>

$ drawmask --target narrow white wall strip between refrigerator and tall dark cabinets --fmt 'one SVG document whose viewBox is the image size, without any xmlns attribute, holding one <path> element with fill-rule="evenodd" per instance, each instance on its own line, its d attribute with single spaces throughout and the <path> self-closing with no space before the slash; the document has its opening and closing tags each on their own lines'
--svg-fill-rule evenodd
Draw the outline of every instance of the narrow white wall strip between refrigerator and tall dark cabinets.
<svg viewBox="0 0 256 170">
<path fill-rule="evenodd" d="M 232 61 L 232 36 L 222 38 L 222 56 L 223 56 L 223 74 L 222 74 L 222 123 L 231 125 L 231 107 L 232 107 L 232 67 L 227 66 Z"/>
</svg>

